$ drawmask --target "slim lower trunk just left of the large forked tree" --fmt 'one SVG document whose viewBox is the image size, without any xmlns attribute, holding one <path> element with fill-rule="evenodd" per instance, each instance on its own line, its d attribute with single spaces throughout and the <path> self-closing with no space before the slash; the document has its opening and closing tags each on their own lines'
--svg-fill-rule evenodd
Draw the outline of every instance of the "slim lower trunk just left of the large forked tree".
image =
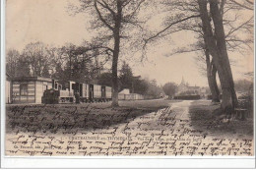
<svg viewBox="0 0 256 170">
<path fill-rule="evenodd" d="M 216 82 L 217 70 L 214 64 L 211 63 L 210 61 L 210 54 L 208 49 L 205 50 L 205 55 L 206 55 L 206 66 L 207 66 L 207 79 L 208 79 L 208 85 L 210 87 L 211 94 L 212 94 L 212 101 L 220 102 L 220 98 L 219 98 L 220 91 Z"/>
</svg>

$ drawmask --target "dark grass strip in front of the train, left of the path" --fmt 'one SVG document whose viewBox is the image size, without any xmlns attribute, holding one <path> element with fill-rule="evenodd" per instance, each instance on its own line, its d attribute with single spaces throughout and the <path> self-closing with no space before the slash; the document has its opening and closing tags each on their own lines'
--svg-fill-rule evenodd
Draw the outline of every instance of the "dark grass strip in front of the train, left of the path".
<svg viewBox="0 0 256 170">
<path fill-rule="evenodd" d="M 6 132 L 72 134 L 90 129 L 106 129 L 168 107 L 169 103 L 169 100 L 120 101 L 120 107 L 116 108 L 111 108 L 110 102 L 7 105 Z"/>
</svg>

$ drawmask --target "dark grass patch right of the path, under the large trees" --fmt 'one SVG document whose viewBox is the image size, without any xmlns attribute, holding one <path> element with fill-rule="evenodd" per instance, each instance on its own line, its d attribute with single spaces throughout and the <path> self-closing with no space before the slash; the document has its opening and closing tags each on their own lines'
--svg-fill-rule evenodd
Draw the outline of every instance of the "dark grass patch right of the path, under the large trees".
<svg viewBox="0 0 256 170">
<path fill-rule="evenodd" d="M 252 118 L 224 120 L 219 108 L 220 104 L 211 101 L 194 101 L 189 108 L 192 126 L 216 136 L 253 137 Z"/>
</svg>

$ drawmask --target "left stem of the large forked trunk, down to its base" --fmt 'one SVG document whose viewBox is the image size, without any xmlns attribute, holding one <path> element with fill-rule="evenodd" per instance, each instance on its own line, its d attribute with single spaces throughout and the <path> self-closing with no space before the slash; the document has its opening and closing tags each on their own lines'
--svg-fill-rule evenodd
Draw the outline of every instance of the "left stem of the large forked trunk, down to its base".
<svg viewBox="0 0 256 170">
<path fill-rule="evenodd" d="M 210 23 L 210 17 L 208 15 L 207 10 L 207 1 L 206 0 L 198 0 L 199 9 L 200 9 L 200 17 L 202 20 L 202 28 L 204 32 L 204 40 L 206 42 L 207 47 L 209 48 L 209 52 L 213 57 L 214 65 L 216 66 L 216 69 L 218 71 L 221 86 L 223 89 L 223 98 L 222 98 L 222 109 L 225 114 L 231 114 L 233 110 L 233 101 L 232 101 L 232 85 L 230 85 L 230 78 L 229 74 L 227 73 L 225 67 L 226 63 L 224 63 L 224 57 L 223 52 L 217 46 L 216 37 L 213 34 L 213 28 Z M 220 12 L 220 11 L 219 11 Z M 217 13 L 216 11 L 213 13 Z M 222 25 L 223 23 L 219 23 L 219 25 Z M 219 28 L 219 27 L 217 27 Z M 216 31 L 218 31 L 215 28 Z M 227 58 L 228 60 L 228 58 Z"/>
</svg>

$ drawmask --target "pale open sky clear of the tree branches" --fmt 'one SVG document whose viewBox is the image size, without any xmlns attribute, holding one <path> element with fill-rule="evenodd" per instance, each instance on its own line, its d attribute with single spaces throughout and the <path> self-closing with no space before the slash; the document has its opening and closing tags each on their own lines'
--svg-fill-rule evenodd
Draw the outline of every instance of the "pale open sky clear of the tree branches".
<svg viewBox="0 0 256 170">
<path fill-rule="evenodd" d="M 41 41 L 52 46 L 61 46 L 66 42 L 81 44 L 90 40 L 91 16 L 70 15 L 67 6 L 71 0 L 7 0 L 6 1 L 6 49 L 22 51 L 26 44 Z M 73 1 L 72 1 L 73 2 Z M 160 21 L 154 21 L 156 27 Z M 207 78 L 198 67 L 197 53 L 184 53 L 169 56 L 170 49 L 193 42 L 190 32 L 182 31 L 171 38 L 160 39 L 156 45 L 149 46 L 147 61 L 128 61 L 136 76 L 156 79 L 159 85 L 167 82 L 180 84 L 182 77 L 190 85 L 207 85 Z M 234 80 L 243 79 L 244 73 L 253 71 L 253 52 L 241 55 L 229 53 Z"/>
</svg>

